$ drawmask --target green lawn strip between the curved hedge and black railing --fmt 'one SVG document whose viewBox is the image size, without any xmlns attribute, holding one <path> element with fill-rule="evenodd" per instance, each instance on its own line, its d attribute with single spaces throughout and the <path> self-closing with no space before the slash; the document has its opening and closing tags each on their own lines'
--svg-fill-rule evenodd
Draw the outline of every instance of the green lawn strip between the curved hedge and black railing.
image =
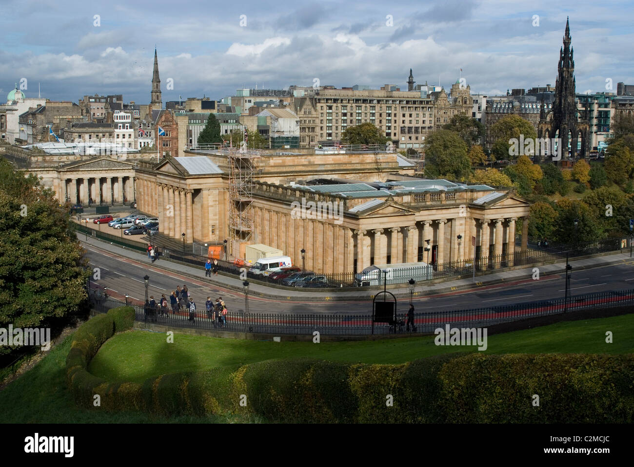
<svg viewBox="0 0 634 467">
<path fill-rule="evenodd" d="M 612 331 L 614 343 L 605 343 Z M 283 340 L 283 336 L 282 336 Z M 492 335 L 489 353 L 625 353 L 634 349 L 634 314 Z M 476 347 L 436 346 L 434 336 L 354 342 L 273 342 L 129 331 L 108 340 L 90 364 L 93 375 L 142 382 L 162 373 L 193 371 L 280 358 L 317 358 L 359 363 L 404 363 Z"/>
</svg>

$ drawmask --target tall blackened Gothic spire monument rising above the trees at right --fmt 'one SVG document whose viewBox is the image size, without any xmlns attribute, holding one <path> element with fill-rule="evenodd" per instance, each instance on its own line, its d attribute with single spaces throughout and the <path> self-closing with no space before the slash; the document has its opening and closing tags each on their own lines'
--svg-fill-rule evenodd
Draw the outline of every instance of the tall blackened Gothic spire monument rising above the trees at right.
<svg viewBox="0 0 634 467">
<path fill-rule="evenodd" d="M 590 151 L 590 125 L 588 121 L 579 118 L 575 99 L 574 58 L 570 25 L 566 20 L 564 46 L 559 49 L 559 64 L 557 65 L 557 82 L 555 84 L 555 100 L 550 111 L 540 112 L 539 137 L 559 138 L 561 165 L 570 156 L 577 153 L 578 140 L 581 138 L 581 158 L 585 158 Z M 571 145 L 571 154 L 568 153 Z M 553 159 L 558 160 L 558 159 Z"/>
</svg>

